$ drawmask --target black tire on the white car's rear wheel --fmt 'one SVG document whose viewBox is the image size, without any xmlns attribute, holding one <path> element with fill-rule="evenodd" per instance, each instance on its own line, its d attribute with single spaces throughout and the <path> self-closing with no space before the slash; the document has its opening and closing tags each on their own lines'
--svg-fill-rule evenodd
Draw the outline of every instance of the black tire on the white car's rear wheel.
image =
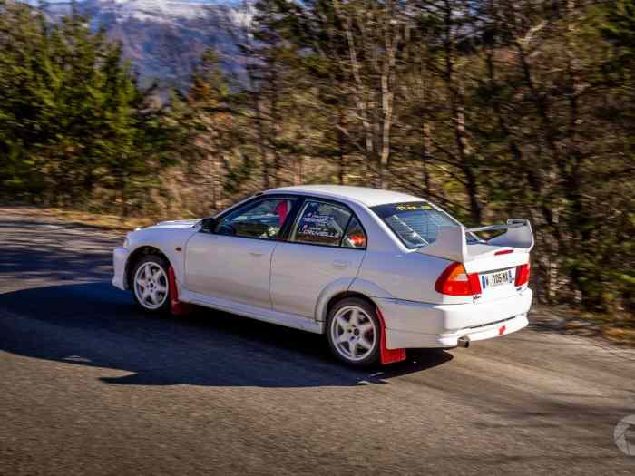
<svg viewBox="0 0 635 476">
<path fill-rule="evenodd" d="M 352 316 L 350 313 L 355 308 L 357 308 L 364 314 L 363 319 L 359 319 L 360 315 L 357 315 L 358 325 L 351 324 Z M 348 311 L 348 309 L 350 309 L 350 311 Z M 337 316 L 339 316 L 340 319 L 344 319 L 344 321 L 346 321 L 347 316 L 349 316 L 349 320 L 347 321 L 348 327 L 345 331 L 343 326 L 341 325 L 341 320 L 338 320 L 337 323 L 334 323 Z M 361 335 L 361 338 L 366 341 L 366 343 L 368 342 L 368 339 L 371 336 L 370 331 L 363 330 L 367 327 L 367 324 L 372 325 L 373 331 L 373 341 L 372 345 L 369 348 L 366 348 L 361 344 L 359 337 L 359 335 Z M 340 333 L 339 331 L 344 332 Z M 345 340 L 335 342 L 336 335 Z M 355 339 L 356 336 L 357 340 Z M 379 323 L 379 318 L 377 317 L 376 307 L 371 305 L 364 299 L 360 299 L 358 297 L 347 297 L 337 302 L 337 304 L 333 306 L 333 308 L 328 313 L 328 347 L 331 349 L 333 355 L 335 355 L 342 362 L 354 367 L 365 367 L 377 364 L 379 362 L 381 353 L 380 339 L 381 324 Z M 356 355 L 358 349 L 361 349 L 363 351 L 363 355 L 361 356 L 361 358 L 359 356 L 357 356 L 357 358 L 353 358 L 353 355 Z"/>
</svg>

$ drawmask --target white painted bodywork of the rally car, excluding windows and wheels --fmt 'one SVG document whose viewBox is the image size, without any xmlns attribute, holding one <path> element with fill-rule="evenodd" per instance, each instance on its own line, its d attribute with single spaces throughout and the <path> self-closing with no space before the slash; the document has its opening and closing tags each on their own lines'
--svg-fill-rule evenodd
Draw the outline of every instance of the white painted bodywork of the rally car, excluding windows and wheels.
<svg viewBox="0 0 635 476">
<path fill-rule="evenodd" d="M 492 287 L 479 296 L 446 296 L 435 290 L 435 282 L 453 261 L 468 273 L 528 263 L 533 245 L 528 223 L 509 225 L 503 235 L 478 244 L 466 242 L 462 226 L 442 227 L 433 244 L 411 249 L 369 207 L 423 199 L 338 186 L 272 189 L 260 196 L 270 194 L 346 205 L 366 231 L 366 250 L 213 235 L 201 231 L 199 220 L 168 221 L 130 233 L 126 246 L 114 250 L 112 284 L 129 288 L 128 262 L 137 250 L 151 247 L 174 268 L 181 301 L 309 332 L 324 332 L 334 296 L 366 296 L 381 311 L 389 349 L 452 347 L 460 337 L 475 341 L 527 325 L 532 290 L 526 284 Z"/>
</svg>

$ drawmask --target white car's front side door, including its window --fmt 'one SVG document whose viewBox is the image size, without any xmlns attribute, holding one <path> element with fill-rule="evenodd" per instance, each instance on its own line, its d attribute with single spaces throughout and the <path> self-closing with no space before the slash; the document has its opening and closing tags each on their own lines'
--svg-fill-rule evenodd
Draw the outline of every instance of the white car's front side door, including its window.
<svg viewBox="0 0 635 476">
<path fill-rule="evenodd" d="M 185 283 L 195 293 L 270 309 L 271 255 L 295 199 L 262 198 L 200 231 L 186 248 Z"/>
</svg>

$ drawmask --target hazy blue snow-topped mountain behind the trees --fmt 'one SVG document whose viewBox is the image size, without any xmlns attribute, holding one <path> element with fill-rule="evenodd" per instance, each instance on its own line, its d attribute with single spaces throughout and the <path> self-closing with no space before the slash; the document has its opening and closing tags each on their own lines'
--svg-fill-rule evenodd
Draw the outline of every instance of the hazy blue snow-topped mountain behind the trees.
<svg viewBox="0 0 635 476">
<path fill-rule="evenodd" d="M 210 46 L 226 73 L 244 75 L 237 42 L 249 24 L 249 6 L 228 0 L 84 0 L 77 6 L 95 30 L 102 27 L 121 42 L 142 84 L 186 87 L 192 67 Z M 59 17 L 70 12 L 71 3 L 50 2 L 44 10 Z"/>
</svg>

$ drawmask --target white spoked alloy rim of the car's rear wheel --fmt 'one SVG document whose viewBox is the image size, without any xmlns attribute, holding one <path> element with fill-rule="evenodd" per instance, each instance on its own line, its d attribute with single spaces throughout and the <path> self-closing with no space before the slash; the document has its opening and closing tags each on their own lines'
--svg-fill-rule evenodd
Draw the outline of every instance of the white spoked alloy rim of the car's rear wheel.
<svg viewBox="0 0 635 476">
<path fill-rule="evenodd" d="M 379 332 L 375 319 L 361 306 L 348 305 L 337 309 L 331 319 L 330 340 L 337 354 L 348 362 L 361 362 L 373 355 Z"/>
</svg>

